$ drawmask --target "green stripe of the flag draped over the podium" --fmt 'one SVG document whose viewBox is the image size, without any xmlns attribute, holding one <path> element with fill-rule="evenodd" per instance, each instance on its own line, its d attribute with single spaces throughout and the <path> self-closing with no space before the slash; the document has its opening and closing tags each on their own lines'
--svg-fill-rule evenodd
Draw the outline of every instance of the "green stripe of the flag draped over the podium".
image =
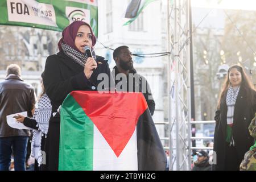
<svg viewBox="0 0 256 182">
<path fill-rule="evenodd" d="M 70 94 L 62 106 L 64 107 L 61 107 L 60 111 L 59 170 L 92 171 L 94 124 Z M 72 114 L 69 113 L 71 110 Z M 76 117 L 71 118 L 68 115 Z"/>
</svg>

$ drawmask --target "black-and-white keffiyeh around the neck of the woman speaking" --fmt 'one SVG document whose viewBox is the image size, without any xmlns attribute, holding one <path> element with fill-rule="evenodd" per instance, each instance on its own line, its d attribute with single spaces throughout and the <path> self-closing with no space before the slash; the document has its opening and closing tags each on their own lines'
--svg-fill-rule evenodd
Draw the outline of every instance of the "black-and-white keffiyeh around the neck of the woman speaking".
<svg viewBox="0 0 256 182">
<path fill-rule="evenodd" d="M 84 64 L 86 63 L 86 60 L 88 57 L 86 54 L 82 54 L 76 49 L 73 49 L 72 47 L 68 46 L 67 44 L 62 43 L 61 48 L 63 49 L 65 55 L 70 57 L 72 60 L 74 60 L 77 64 L 80 64 L 84 68 Z M 91 49 L 92 56 L 94 60 L 96 60 L 96 54 L 94 51 L 94 48 Z"/>
</svg>

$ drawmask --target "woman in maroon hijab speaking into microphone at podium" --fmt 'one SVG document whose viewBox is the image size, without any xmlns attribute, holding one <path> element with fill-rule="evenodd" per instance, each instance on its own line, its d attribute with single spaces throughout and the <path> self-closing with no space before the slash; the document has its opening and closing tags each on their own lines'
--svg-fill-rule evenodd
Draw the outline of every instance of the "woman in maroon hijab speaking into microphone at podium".
<svg viewBox="0 0 256 182">
<path fill-rule="evenodd" d="M 57 170 L 59 164 L 60 114 L 57 112 L 65 97 L 73 90 L 97 90 L 100 73 L 111 78 L 109 65 L 104 57 L 96 56 L 96 37 L 88 23 L 76 21 L 62 32 L 59 52 L 47 57 L 43 83 L 51 100 L 52 115 L 46 139 L 46 165 L 44 170 Z M 92 57 L 86 55 L 90 47 Z M 98 64 L 97 64 L 98 63 Z"/>
</svg>

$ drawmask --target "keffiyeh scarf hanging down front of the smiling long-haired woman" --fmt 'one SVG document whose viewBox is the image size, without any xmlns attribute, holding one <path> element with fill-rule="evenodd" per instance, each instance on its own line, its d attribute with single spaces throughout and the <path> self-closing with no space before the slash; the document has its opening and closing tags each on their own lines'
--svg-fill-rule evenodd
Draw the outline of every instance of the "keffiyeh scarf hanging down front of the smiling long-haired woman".
<svg viewBox="0 0 256 182">
<path fill-rule="evenodd" d="M 234 89 L 232 86 L 229 86 L 228 93 L 226 95 L 226 105 L 228 106 L 228 112 L 226 113 L 226 142 L 234 146 L 234 139 L 232 137 L 232 126 L 234 122 L 234 108 L 237 100 L 237 96 L 240 90 L 240 86 Z"/>
</svg>

